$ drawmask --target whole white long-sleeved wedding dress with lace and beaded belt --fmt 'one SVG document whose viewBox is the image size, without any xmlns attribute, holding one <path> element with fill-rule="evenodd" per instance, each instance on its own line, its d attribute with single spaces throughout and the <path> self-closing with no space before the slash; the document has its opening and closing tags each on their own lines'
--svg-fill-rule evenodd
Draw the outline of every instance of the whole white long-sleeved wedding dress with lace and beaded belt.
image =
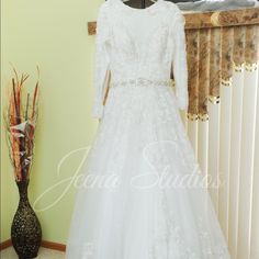
<svg viewBox="0 0 259 259">
<path fill-rule="evenodd" d="M 66 258 L 230 258 L 178 110 L 189 98 L 180 10 L 108 0 L 95 46 L 101 120 L 77 180 Z"/>
</svg>

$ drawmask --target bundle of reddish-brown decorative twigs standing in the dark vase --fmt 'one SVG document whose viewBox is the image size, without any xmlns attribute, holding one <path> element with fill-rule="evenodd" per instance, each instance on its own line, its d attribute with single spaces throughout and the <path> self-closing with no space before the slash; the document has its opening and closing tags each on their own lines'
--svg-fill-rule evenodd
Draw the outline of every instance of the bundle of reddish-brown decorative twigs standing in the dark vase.
<svg viewBox="0 0 259 259">
<path fill-rule="evenodd" d="M 35 125 L 37 114 L 37 95 L 38 95 L 38 79 L 33 93 L 33 103 L 30 105 L 30 93 L 26 94 L 24 102 L 25 109 L 22 105 L 22 91 L 24 82 L 29 75 L 22 74 L 19 78 L 16 70 L 13 68 L 14 78 L 12 78 L 12 94 L 9 97 L 9 105 L 5 114 L 5 125 L 8 134 L 9 156 L 14 167 L 14 176 L 18 181 L 29 179 L 29 172 L 32 165 Z M 40 69 L 37 67 L 38 78 Z M 8 91 L 9 93 L 9 91 Z M 8 94 L 9 95 L 9 94 Z M 31 113 L 32 108 L 32 113 Z M 31 113 L 31 116 L 30 116 Z"/>
</svg>

